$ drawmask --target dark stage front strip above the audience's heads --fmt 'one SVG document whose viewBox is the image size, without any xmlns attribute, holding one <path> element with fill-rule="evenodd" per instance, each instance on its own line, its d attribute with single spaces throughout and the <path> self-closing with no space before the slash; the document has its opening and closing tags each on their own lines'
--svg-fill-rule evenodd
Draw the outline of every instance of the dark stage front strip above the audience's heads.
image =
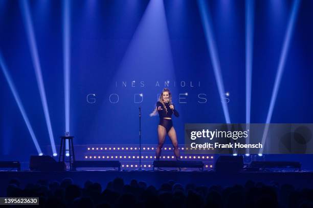
<svg viewBox="0 0 313 208">
<path fill-rule="evenodd" d="M 193 183 L 196 185 L 219 185 L 223 187 L 235 184 L 244 185 L 247 180 L 262 182 L 265 184 L 278 183 L 292 184 L 295 188 L 313 188 L 313 172 L 239 172 L 220 173 L 215 171 L 65 171 L 65 172 L 36 172 L 36 171 L 2 171 L 0 172 L 0 196 L 5 196 L 6 188 L 11 178 L 20 180 L 21 188 L 28 183 L 36 183 L 38 179 L 49 181 L 63 178 L 72 178 L 74 183 L 83 187 L 86 180 L 92 180 L 102 185 L 105 189 L 108 181 L 116 177 L 124 179 L 125 183 L 130 183 L 131 179 L 145 181 L 147 185 L 160 187 L 169 180 L 186 185 Z"/>
</svg>

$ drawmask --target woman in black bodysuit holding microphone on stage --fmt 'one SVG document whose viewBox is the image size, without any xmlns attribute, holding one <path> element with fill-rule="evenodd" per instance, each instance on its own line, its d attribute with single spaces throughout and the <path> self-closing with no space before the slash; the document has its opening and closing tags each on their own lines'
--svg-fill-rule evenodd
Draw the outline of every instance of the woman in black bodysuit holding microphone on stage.
<svg viewBox="0 0 313 208">
<path fill-rule="evenodd" d="M 180 160 L 180 150 L 178 149 L 177 136 L 172 122 L 172 114 L 174 113 L 176 117 L 180 115 L 172 104 L 172 95 L 167 88 L 163 89 L 159 101 L 157 102 L 157 108 L 154 109 L 150 116 L 157 115 L 157 112 L 159 112 L 160 123 L 158 125 L 159 143 L 157 150 L 155 151 L 155 158 L 160 160 L 161 150 L 165 141 L 165 136 L 167 134 L 172 141 L 176 160 Z"/>
</svg>

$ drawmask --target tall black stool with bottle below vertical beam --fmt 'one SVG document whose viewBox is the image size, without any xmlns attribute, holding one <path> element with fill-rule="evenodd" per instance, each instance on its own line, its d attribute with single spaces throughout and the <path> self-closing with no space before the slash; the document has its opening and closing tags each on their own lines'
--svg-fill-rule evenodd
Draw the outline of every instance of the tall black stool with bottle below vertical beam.
<svg viewBox="0 0 313 208">
<path fill-rule="evenodd" d="M 70 170 L 73 171 L 73 163 L 75 162 L 75 154 L 74 154 L 74 145 L 73 145 L 73 138 L 71 136 L 63 136 L 61 138 L 61 145 L 60 145 L 60 154 L 59 154 L 59 162 L 69 162 L 70 163 Z M 65 141 L 69 141 L 69 149 L 66 149 Z M 69 160 L 65 160 L 65 153 L 69 151 Z"/>
</svg>

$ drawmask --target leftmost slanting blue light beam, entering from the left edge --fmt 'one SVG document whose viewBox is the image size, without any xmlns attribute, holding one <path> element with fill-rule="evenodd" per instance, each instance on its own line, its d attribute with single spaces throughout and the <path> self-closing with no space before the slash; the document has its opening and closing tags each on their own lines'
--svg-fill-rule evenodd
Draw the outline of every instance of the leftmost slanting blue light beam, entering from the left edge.
<svg viewBox="0 0 313 208">
<path fill-rule="evenodd" d="M 36 150 L 37 150 L 38 154 L 42 154 L 42 151 L 41 151 L 40 146 L 39 146 L 39 144 L 37 142 L 37 138 L 35 136 L 33 128 L 32 128 L 32 126 L 30 124 L 30 121 L 29 121 L 29 119 L 27 117 L 26 111 L 25 111 L 25 109 L 23 107 L 23 103 L 21 102 L 21 100 L 19 98 L 17 90 L 16 90 L 16 88 L 14 86 L 13 80 L 11 78 L 11 75 L 9 74 L 9 70 L 8 70 L 8 68 L 7 68 L 7 66 L 6 66 L 6 64 L 4 62 L 3 57 L 2 57 L 1 51 L 0 51 L 0 65 L 1 65 L 1 69 L 2 69 L 2 71 L 4 73 L 4 75 L 6 77 L 6 80 L 7 80 L 8 84 L 9 84 L 9 87 L 10 87 L 10 89 L 12 91 L 14 99 L 15 99 L 15 101 L 17 103 L 18 109 L 19 109 L 21 115 L 23 116 L 23 119 L 24 119 L 24 121 L 26 123 L 26 126 L 28 128 L 28 131 L 29 131 L 29 133 L 30 133 L 30 135 L 31 135 L 31 137 L 33 139 L 33 142 L 35 144 Z"/>
</svg>

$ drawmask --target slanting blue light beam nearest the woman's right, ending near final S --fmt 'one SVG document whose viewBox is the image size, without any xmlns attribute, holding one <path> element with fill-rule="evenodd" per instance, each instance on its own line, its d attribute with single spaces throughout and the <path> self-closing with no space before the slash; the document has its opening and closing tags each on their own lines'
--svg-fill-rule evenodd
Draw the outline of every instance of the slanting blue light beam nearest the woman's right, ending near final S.
<svg viewBox="0 0 313 208">
<path fill-rule="evenodd" d="M 210 57 L 211 57 L 212 64 L 213 64 L 215 80 L 216 80 L 220 100 L 222 103 L 223 113 L 225 116 L 226 123 L 231 123 L 227 103 L 222 101 L 223 98 L 225 98 L 225 97 L 223 97 L 225 94 L 225 89 L 224 89 L 224 84 L 223 84 L 223 80 L 222 80 L 219 58 L 218 58 L 218 54 L 217 54 L 217 47 L 216 47 L 216 43 L 215 43 L 215 39 L 214 39 L 214 35 L 213 35 L 212 20 L 211 20 L 211 16 L 210 16 L 210 13 L 208 10 L 208 5 L 206 4 L 206 1 L 198 0 L 198 7 L 200 10 L 200 17 L 202 20 L 202 25 L 203 25 L 204 32 L 205 32 L 205 37 L 207 40 L 207 45 L 209 48 Z"/>
</svg>

